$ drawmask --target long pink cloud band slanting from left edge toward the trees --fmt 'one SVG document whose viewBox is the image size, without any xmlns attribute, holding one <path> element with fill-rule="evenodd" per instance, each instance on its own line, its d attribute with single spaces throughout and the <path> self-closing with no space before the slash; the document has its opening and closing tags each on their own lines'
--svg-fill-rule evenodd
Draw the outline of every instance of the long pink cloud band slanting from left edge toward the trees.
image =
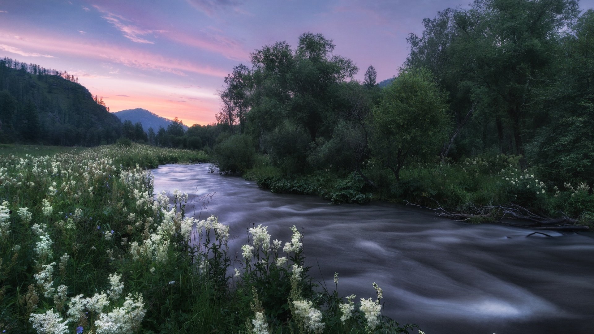
<svg viewBox="0 0 594 334">
<path fill-rule="evenodd" d="M 194 62 L 180 61 L 166 58 L 153 53 L 135 49 L 120 48 L 115 45 L 82 42 L 52 34 L 51 36 L 27 36 L 24 40 L 15 40 L 7 34 L 0 36 L 0 42 L 17 43 L 27 48 L 41 49 L 45 52 L 62 53 L 65 55 L 83 56 L 89 59 L 107 60 L 141 70 L 157 70 L 165 73 L 187 75 L 186 73 L 205 74 L 213 77 L 225 77 L 228 71 L 210 66 L 202 66 Z M 31 55 L 40 55 L 31 53 Z M 50 56 L 51 57 L 51 56 Z"/>
</svg>

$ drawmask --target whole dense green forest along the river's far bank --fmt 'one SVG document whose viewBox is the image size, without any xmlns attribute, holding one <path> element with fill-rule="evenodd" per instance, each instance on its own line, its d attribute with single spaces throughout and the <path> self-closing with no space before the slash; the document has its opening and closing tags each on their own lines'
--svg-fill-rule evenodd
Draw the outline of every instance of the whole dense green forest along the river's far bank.
<svg viewBox="0 0 594 334">
<path fill-rule="evenodd" d="M 594 11 L 477 0 L 423 23 L 384 88 L 322 34 L 255 50 L 220 92 L 220 171 L 334 203 L 592 221 Z"/>
</svg>

